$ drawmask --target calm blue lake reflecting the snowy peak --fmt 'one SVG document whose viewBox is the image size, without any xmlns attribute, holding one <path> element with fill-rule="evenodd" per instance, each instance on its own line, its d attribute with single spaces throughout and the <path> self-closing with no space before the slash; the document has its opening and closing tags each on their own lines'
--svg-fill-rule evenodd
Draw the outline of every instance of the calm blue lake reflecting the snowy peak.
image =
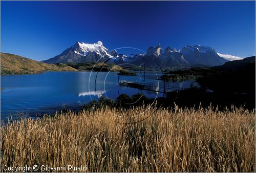
<svg viewBox="0 0 256 173">
<path fill-rule="evenodd" d="M 119 94 L 143 93 L 162 97 L 163 93 L 118 85 L 118 80 L 188 88 L 194 80 L 165 82 L 161 72 L 136 72 L 137 76 L 119 76 L 117 72 L 47 72 L 44 74 L 1 76 L 1 120 L 36 114 L 49 114 L 63 105 L 79 107 L 101 96 L 116 99 Z M 160 89 L 159 89 L 160 91 Z"/>
</svg>

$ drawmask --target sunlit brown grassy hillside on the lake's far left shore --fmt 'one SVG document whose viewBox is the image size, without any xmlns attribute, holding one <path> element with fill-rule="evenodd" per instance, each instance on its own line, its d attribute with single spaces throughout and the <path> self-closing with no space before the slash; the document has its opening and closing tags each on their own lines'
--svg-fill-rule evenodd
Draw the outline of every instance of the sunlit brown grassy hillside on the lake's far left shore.
<svg viewBox="0 0 256 173">
<path fill-rule="evenodd" d="M 66 64 L 47 64 L 9 53 L 1 53 L 1 75 L 33 74 L 44 71 L 77 71 Z"/>
</svg>

